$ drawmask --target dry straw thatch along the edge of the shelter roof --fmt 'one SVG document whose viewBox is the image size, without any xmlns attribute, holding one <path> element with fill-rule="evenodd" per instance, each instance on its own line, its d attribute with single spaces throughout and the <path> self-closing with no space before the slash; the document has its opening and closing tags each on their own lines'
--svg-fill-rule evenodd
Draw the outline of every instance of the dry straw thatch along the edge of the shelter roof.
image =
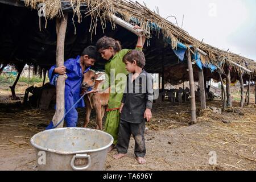
<svg viewBox="0 0 256 182">
<path fill-rule="evenodd" d="M 60 0 L 25 0 L 26 6 L 31 6 L 32 8 L 36 8 L 36 3 L 39 2 L 45 3 L 47 18 L 51 19 L 62 14 Z M 146 5 L 143 6 L 138 2 L 125 0 L 72 0 L 70 2 L 71 6 L 73 7 L 74 14 L 79 17 L 79 22 L 81 21 L 81 17 L 84 16 L 80 13 L 79 7 L 81 3 L 86 3 L 88 6 L 88 11 L 85 13 L 85 15 L 92 16 L 90 27 L 92 32 L 93 30 L 96 30 L 97 26 L 102 26 L 102 29 L 105 28 L 106 14 L 109 13 L 119 14 L 127 22 L 130 22 L 132 17 L 137 18 L 140 22 L 140 26 L 150 32 L 152 32 L 152 27 L 149 25 L 151 23 L 156 23 L 159 27 L 158 34 L 162 33 L 165 38 L 170 38 L 171 48 L 173 49 L 176 48 L 177 42 L 181 42 L 186 46 L 192 45 L 194 48 L 199 48 L 207 53 L 207 56 L 201 55 L 201 59 L 205 63 L 211 63 L 217 67 L 220 67 L 220 63 L 222 63 L 223 67 L 224 65 L 230 65 L 229 60 L 232 60 L 235 63 L 250 69 L 252 71 L 251 75 L 256 75 L 255 61 L 236 55 L 234 53 L 222 51 L 210 46 L 209 44 L 200 42 L 199 40 L 190 36 L 188 32 L 162 18 L 159 14 L 152 12 L 146 7 Z M 96 19 L 100 20 L 100 24 L 97 24 Z M 114 28 L 114 22 L 112 20 L 110 21 L 112 22 L 112 26 Z M 241 71 L 240 68 L 237 68 L 234 65 L 232 65 L 232 67 L 237 72 Z"/>
</svg>

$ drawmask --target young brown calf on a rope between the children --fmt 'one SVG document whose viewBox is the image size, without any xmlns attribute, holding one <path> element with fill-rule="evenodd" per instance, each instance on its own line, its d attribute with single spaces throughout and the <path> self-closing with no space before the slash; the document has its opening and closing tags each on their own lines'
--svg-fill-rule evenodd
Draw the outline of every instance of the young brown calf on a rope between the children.
<svg viewBox="0 0 256 182">
<path fill-rule="evenodd" d="M 84 80 L 82 81 L 82 90 L 86 91 L 89 88 L 97 89 L 98 85 L 104 80 L 97 80 L 104 73 L 99 73 L 96 75 L 93 71 L 88 71 L 84 73 Z M 109 93 L 110 88 L 105 90 L 102 93 L 90 93 L 85 96 L 85 104 L 86 104 L 86 118 L 84 127 L 87 127 L 90 121 L 90 112 L 92 109 L 96 110 L 96 129 L 102 130 L 102 118 L 105 113 L 105 106 L 108 105 L 109 102 Z"/>
</svg>

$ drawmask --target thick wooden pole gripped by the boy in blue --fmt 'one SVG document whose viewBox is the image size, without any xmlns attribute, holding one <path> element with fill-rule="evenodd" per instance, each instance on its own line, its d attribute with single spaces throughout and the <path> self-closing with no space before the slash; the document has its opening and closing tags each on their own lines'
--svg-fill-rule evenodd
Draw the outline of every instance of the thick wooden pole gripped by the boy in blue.
<svg viewBox="0 0 256 182">
<path fill-rule="evenodd" d="M 68 14 L 65 13 L 64 17 L 56 19 L 56 32 L 57 32 L 57 48 L 56 48 L 56 66 L 61 67 L 64 65 L 64 44 L 65 44 L 65 34 L 67 29 Z M 56 125 L 64 117 L 65 101 L 65 80 L 67 75 L 59 75 L 57 78 L 56 86 L 56 110 L 52 118 L 53 125 Z M 60 123 L 57 128 L 63 127 L 63 122 Z"/>
</svg>

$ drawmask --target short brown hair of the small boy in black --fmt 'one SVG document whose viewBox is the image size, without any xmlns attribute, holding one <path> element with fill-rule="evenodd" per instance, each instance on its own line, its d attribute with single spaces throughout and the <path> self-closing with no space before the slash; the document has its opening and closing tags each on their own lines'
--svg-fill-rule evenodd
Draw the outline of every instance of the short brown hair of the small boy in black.
<svg viewBox="0 0 256 182">
<path fill-rule="evenodd" d="M 123 56 L 124 63 L 125 61 L 133 63 L 134 60 L 136 60 L 138 67 L 144 68 L 144 66 L 146 65 L 145 55 L 142 51 L 131 50 L 128 53 L 126 53 L 125 56 Z"/>
</svg>

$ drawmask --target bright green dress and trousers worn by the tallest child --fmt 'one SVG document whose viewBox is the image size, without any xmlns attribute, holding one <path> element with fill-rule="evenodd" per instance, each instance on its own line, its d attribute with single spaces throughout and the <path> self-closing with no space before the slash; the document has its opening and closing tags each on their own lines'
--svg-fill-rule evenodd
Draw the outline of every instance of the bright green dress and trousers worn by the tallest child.
<svg viewBox="0 0 256 182">
<path fill-rule="evenodd" d="M 142 51 L 142 48 L 137 47 L 136 49 Z M 119 73 L 124 73 L 125 75 L 128 72 L 125 69 L 125 63 L 123 63 L 123 57 L 129 52 L 130 49 L 122 49 L 121 51 L 115 53 L 113 58 L 105 64 L 105 73 L 106 73 L 106 80 L 104 85 L 102 85 L 101 89 L 111 88 L 109 102 L 108 102 L 108 109 L 106 123 L 105 123 L 105 132 L 112 135 L 114 138 L 113 144 L 117 144 L 117 137 L 118 137 L 118 126 L 119 126 L 119 108 L 121 106 L 121 101 L 123 97 L 123 89 L 125 88 L 126 80 L 124 79 L 117 79 L 117 75 Z M 110 74 L 111 73 L 111 74 Z M 110 75 L 113 77 L 110 78 Z M 126 77 L 125 77 L 126 79 Z M 121 85 L 121 86 L 120 86 Z M 122 90 L 120 92 L 119 90 Z"/>
</svg>

